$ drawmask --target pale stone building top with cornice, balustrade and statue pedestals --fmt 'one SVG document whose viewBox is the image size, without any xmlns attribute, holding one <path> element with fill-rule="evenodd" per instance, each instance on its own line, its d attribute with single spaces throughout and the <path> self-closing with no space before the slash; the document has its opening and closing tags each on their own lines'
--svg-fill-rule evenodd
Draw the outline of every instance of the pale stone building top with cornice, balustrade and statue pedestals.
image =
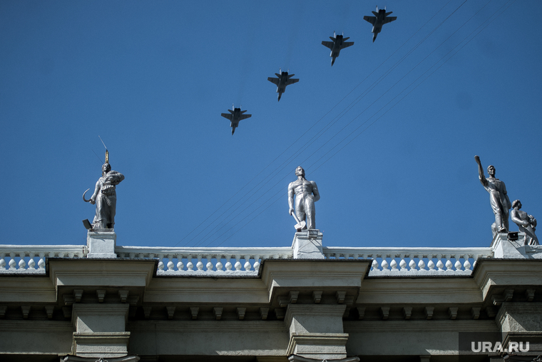
<svg viewBox="0 0 542 362">
<path fill-rule="evenodd" d="M 327 248 L 302 231 L 284 248 L 141 248 L 96 230 L 86 246 L 0 245 L 0 361 L 533 361 L 542 247 L 509 237 Z"/>
</svg>

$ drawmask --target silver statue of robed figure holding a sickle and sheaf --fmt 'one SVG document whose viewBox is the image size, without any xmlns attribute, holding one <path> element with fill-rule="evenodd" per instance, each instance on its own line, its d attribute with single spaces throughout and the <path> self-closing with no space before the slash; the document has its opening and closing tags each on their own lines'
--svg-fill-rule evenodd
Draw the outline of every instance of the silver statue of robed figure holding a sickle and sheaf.
<svg viewBox="0 0 542 362">
<path fill-rule="evenodd" d="M 96 203 L 96 215 L 92 222 L 92 228 L 114 228 L 117 208 L 115 186 L 121 183 L 123 179 L 123 174 L 111 170 L 111 165 L 106 157 L 106 163 L 102 166 L 102 176 L 96 182 L 93 195 L 86 200 L 86 191 L 83 193 L 83 201 L 90 202 L 93 205 Z"/>
</svg>

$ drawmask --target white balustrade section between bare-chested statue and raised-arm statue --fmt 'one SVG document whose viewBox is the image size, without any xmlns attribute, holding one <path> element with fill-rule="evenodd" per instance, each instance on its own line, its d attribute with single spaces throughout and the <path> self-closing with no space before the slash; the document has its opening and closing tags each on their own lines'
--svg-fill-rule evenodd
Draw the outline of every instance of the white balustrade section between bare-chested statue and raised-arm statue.
<svg viewBox="0 0 542 362">
<path fill-rule="evenodd" d="M 369 276 L 470 275 L 476 260 L 493 258 L 493 248 L 324 247 L 326 258 L 373 259 Z M 403 274 L 404 273 L 404 274 Z M 437 275 L 437 274 L 436 274 Z M 439 275 L 439 274 L 438 274 Z"/>
</svg>

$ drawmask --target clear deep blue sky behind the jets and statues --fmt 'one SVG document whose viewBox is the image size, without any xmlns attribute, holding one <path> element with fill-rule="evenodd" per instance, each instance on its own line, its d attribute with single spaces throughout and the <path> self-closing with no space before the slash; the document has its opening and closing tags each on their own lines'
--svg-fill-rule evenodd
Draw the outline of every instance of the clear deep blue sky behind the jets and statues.
<svg viewBox="0 0 542 362">
<path fill-rule="evenodd" d="M 298 165 L 325 246 L 489 246 L 475 154 L 542 222 L 542 1 L 375 5 L 1 1 L 0 243 L 86 243 L 98 135 L 124 246 L 290 246 Z"/>
</svg>

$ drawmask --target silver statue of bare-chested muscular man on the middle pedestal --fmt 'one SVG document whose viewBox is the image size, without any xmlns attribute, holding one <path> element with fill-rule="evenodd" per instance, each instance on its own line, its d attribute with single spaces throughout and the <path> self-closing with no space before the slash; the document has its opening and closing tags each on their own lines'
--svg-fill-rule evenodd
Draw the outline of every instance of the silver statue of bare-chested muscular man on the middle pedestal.
<svg viewBox="0 0 542 362">
<path fill-rule="evenodd" d="M 288 185 L 288 206 L 290 208 L 288 212 L 292 215 L 295 211 L 299 221 L 304 221 L 305 216 L 307 216 L 305 228 L 315 229 L 315 202 L 320 199 L 318 187 L 315 181 L 305 179 L 305 170 L 301 166 L 297 166 L 297 169 L 295 169 L 295 176 L 297 176 L 297 180 L 290 182 Z"/>
</svg>

